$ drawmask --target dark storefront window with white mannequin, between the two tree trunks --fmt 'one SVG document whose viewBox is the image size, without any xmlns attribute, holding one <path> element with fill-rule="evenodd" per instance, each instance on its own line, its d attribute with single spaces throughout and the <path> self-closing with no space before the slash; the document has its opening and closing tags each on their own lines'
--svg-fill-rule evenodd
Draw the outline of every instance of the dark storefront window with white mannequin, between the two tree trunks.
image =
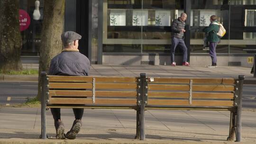
<svg viewBox="0 0 256 144">
<path fill-rule="evenodd" d="M 21 55 L 38 56 L 41 43 L 44 0 L 19 0 L 20 9 L 30 16 L 30 25 L 21 31 Z"/>
</svg>

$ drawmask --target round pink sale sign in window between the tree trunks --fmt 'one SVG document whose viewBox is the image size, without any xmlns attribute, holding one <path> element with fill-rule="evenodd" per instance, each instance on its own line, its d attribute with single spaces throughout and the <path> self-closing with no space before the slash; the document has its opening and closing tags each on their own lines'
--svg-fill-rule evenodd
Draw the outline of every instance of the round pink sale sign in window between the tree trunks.
<svg viewBox="0 0 256 144">
<path fill-rule="evenodd" d="M 19 31 L 26 30 L 30 25 L 30 17 L 27 11 L 19 9 Z"/>
</svg>

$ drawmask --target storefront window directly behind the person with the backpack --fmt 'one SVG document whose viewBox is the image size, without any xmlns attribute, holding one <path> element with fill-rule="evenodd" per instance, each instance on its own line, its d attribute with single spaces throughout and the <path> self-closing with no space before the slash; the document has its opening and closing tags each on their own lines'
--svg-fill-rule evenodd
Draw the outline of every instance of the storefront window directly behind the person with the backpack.
<svg viewBox="0 0 256 144">
<path fill-rule="evenodd" d="M 210 25 L 210 16 L 217 16 L 217 20 L 227 30 L 227 34 L 221 38 L 216 52 L 228 53 L 227 39 L 229 39 L 229 5 L 223 0 L 192 0 L 191 9 L 191 53 L 209 53 L 209 49 L 203 47 L 202 39 L 205 37 L 203 28 Z"/>
</svg>

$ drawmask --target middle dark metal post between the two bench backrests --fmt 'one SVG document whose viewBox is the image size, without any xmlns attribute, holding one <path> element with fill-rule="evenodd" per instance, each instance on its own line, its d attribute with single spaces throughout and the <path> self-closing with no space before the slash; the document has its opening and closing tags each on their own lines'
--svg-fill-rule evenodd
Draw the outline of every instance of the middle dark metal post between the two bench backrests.
<svg viewBox="0 0 256 144">
<path fill-rule="evenodd" d="M 141 95 L 141 105 L 140 105 L 140 140 L 145 140 L 145 81 L 146 73 L 140 73 L 140 95 Z"/>
</svg>

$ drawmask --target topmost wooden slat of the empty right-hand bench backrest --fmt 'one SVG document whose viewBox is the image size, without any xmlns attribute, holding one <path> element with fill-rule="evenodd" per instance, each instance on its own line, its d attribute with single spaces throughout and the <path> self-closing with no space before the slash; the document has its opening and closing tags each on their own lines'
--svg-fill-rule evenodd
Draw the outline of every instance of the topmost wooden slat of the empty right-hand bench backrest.
<svg viewBox="0 0 256 144">
<path fill-rule="evenodd" d="M 149 78 L 150 80 L 150 78 Z M 189 84 L 193 80 L 195 84 L 235 84 L 234 79 L 207 79 L 207 78 L 154 78 L 154 81 L 148 83 L 184 83 Z"/>
</svg>

